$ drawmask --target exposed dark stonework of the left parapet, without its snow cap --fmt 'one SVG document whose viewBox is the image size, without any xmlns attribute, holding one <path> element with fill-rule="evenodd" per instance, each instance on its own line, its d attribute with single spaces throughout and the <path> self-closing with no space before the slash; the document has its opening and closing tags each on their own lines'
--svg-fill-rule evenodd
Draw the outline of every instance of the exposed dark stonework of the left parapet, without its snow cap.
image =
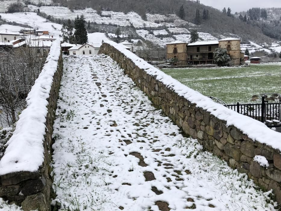
<svg viewBox="0 0 281 211">
<path fill-rule="evenodd" d="M 50 177 L 52 161 L 52 132 L 53 121 L 63 71 L 62 54 L 58 60 L 57 71 L 53 76 L 52 87 L 47 99 L 48 113 L 45 121 L 44 135 L 44 162 L 38 171 L 12 172 L 0 176 L 0 197 L 9 202 L 15 202 L 25 211 L 50 209 L 50 194 L 52 191 L 52 178 Z"/>
</svg>

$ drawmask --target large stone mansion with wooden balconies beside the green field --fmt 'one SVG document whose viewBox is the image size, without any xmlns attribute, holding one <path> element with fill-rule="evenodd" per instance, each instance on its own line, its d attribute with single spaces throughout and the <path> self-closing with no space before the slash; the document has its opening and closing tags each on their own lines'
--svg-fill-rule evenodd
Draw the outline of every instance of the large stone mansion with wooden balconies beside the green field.
<svg viewBox="0 0 281 211">
<path fill-rule="evenodd" d="M 167 59 L 177 58 L 177 65 L 214 64 L 214 52 L 217 48 L 227 50 L 233 65 L 239 65 L 244 54 L 240 51 L 240 39 L 197 41 L 194 43 L 173 42 L 167 44 Z"/>
</svg>

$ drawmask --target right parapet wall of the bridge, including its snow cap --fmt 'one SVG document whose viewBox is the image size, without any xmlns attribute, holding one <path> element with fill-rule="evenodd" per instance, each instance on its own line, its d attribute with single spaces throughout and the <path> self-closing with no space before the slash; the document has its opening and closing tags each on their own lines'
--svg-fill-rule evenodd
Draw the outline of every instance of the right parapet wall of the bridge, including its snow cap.
<svg viewBox="0 0 281 211">
<path fill-rule="evenodd" d="M 186 87 L 120 44 L 106 41 L 99 54 L 114 59 L 151 101 L 205 150 L 247 174 L 264 191 L 273 189 L 281 203 L 281 134 Z M 255 156 L 265 157 L 268 164 L 260 165 Z"/>
</svg>

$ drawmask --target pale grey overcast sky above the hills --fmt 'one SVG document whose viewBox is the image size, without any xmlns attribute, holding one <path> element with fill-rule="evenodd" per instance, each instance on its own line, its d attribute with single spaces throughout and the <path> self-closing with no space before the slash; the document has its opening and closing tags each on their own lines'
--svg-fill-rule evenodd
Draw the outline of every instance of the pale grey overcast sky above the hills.
<svg viewBox="0 0 281 211">
<path fill-rule="evenodd" d="M 233 13 L 247 11 L 252 7 L 281 7 L 281 0 L 200 0 L 200 3 L 219 10 L 230 7 Z"/>
</svg>

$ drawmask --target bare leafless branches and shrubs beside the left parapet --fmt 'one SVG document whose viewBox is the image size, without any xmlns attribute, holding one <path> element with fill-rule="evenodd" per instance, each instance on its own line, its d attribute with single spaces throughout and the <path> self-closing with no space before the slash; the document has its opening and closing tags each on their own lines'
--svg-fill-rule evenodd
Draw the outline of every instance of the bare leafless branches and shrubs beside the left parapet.
<svg viewBox="0 0 281 211">
<path fill-rule="evenodd" d="M 25 99 L 38 77 L 47 51 L 40 47 L 0 49 L 0 125 L 11 126 L 25 106 Z"/>
</svg>

